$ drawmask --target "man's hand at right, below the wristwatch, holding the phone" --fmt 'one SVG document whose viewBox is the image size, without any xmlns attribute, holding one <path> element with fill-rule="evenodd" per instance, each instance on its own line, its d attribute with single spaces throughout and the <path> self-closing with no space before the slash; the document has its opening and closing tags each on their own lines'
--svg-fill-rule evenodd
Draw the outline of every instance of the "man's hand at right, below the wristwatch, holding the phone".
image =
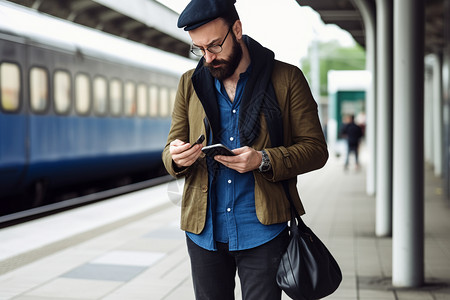
<svg viewBox="0 0 450 300">
<path fill-rule="evenodd" d="M 261 151 L 250 147 L 242 147 L 232 150 L 236 156 L 216 155 L 214 159 L 230 169 L 239 173 L 245 173 L 258 169 L 262 161 Z"/>
</svg>

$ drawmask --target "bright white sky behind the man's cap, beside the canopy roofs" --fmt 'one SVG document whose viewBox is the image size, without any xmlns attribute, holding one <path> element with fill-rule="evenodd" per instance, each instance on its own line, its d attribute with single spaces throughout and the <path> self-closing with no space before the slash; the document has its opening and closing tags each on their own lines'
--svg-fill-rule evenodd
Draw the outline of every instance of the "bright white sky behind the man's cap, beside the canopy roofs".
<svg viewBox="0 0 450 300">
<path fill-rule="evenodd" d="M 189 0 L 157 0 L 181 13 Z M 237 0 L 244 34 L 273 50 L 279 60 L 300 66 L 311 41 L 338 40 L 343 46 L 355 42 L 335 25 L 325 25 L 318 13 L 295 0 Z"/>
</svg>

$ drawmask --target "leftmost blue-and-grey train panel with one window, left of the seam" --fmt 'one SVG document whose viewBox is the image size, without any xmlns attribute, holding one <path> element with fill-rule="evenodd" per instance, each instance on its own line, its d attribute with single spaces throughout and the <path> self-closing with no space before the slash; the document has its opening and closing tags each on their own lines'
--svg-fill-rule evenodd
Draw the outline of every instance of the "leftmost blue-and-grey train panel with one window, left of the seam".
<svg viewBox="0 0 450 300">
<path fill-rule="evenodd" d="M 26 45 L 0 38 L 0 198 L 20 191 L 27 166 Z M 0 203 L 2 207 L 2 203 Z"/>
</svg>

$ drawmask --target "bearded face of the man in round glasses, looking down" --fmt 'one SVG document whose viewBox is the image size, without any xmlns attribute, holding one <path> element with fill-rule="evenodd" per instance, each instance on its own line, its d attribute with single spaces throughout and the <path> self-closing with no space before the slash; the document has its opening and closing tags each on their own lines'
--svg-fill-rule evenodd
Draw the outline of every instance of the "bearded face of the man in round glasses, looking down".
<svg viewBox="0 0 450 300">
<path fill-rule="evenodd" d="M 222 19 L 216 19 L 189 32 L 193 44 L 205 49 L 204 66 L 219 80 L 233 75 L 242 58 L 242 48 L 233 31 L 231 30 L 227 36 L 229 29 Z M 221 43 L 223 44 L 220 53 L 211 53 L 206 50 L 212 45 Z"/>
</svg>

